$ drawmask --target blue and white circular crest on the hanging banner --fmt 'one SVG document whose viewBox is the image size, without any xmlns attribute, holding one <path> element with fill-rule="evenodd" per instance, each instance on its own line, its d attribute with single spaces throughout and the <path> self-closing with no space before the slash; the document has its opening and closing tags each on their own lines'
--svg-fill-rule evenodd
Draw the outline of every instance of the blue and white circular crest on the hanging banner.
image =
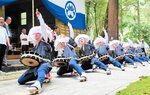
<svg viewBox="0 0 150 95">
<path fill-rule="evenodd" d="M 69 20 L 74 20 L 76 18 L 76 7 L 73 2 L 68 1 L 65 5 L 65 14 Z"/>
</svg>

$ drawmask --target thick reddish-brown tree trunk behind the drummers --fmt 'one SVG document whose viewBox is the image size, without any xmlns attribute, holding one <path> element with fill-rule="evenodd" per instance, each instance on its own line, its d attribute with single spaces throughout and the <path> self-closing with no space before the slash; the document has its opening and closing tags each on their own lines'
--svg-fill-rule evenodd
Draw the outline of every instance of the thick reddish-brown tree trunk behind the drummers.
<svg viewBox="0 0 150 95">
<path fill-rule="evenodd" d="M 108 33 L 112 39 L 118 39 L 118 0 L 108 2 Z"/>
</svg>

